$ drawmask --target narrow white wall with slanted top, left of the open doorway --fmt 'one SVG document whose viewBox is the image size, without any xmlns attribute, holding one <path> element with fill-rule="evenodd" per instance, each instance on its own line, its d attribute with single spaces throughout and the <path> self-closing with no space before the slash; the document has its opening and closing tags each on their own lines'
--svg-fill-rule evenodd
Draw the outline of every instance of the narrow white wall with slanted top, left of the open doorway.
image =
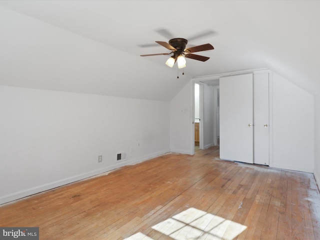
<svg viewBox="0 0 320 240">
<path fill-rule="evenodd" d="M 192 154 L 194 147 L 193 82 L 189 81 L 170 101 L 170 149 Z M 192 96 L 192 97 L 191 97 Z"/>
</svg>

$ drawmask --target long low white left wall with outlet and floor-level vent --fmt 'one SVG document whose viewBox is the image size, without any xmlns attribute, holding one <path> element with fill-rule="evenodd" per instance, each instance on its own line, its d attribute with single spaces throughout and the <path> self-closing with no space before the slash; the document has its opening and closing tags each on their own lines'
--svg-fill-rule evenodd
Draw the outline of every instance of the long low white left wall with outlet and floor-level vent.
<svg viewBox="0 0 320 240">
<path fill-rule="evenodd" d="M 0 203 L 169 151 L 169 102 L 0 86 L 0 114 Z"/>
</svg>

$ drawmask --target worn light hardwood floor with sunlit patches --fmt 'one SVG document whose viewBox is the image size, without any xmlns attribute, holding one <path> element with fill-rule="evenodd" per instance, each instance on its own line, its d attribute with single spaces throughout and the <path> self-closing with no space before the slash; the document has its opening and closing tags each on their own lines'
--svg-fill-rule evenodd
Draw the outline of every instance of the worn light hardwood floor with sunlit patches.
<svg viewBox="0 0 320 240">
<path fill-rule="evenodd" d="M 40 239 L 320 239 L 313 174 L 165 154 L 0 206 Z"/>
</svg>

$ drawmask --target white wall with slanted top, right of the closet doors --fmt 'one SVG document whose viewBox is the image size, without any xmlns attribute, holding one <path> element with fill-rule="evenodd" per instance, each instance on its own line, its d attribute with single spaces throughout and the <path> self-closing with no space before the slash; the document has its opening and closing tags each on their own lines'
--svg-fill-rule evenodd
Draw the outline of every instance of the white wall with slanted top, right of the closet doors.
<svg viewBox="0 0 320 240">
<path fill-rule="evenodd" d="M 273 73 L 273 167 L 313 172 L 313 96 Z"/>
</svg>

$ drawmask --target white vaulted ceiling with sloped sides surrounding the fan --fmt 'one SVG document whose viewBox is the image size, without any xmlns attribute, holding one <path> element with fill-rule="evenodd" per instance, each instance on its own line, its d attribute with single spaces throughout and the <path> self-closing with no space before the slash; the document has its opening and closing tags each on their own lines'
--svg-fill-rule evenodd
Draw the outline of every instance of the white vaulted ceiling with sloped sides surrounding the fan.
<svg viewBox="0 0 320 240">
<path fill-rule="evenodd" d="M 0 84 L 168 101 L 192 76 L 270 68 L 320 85 L 320 1 L 2 0 Z M 154 44 L 211 43 L 184 75 Z M 187 46 L 189 46 L 187 45 Z M 179 74 L 179 78 L 176 78 Z"/>
</svg>

